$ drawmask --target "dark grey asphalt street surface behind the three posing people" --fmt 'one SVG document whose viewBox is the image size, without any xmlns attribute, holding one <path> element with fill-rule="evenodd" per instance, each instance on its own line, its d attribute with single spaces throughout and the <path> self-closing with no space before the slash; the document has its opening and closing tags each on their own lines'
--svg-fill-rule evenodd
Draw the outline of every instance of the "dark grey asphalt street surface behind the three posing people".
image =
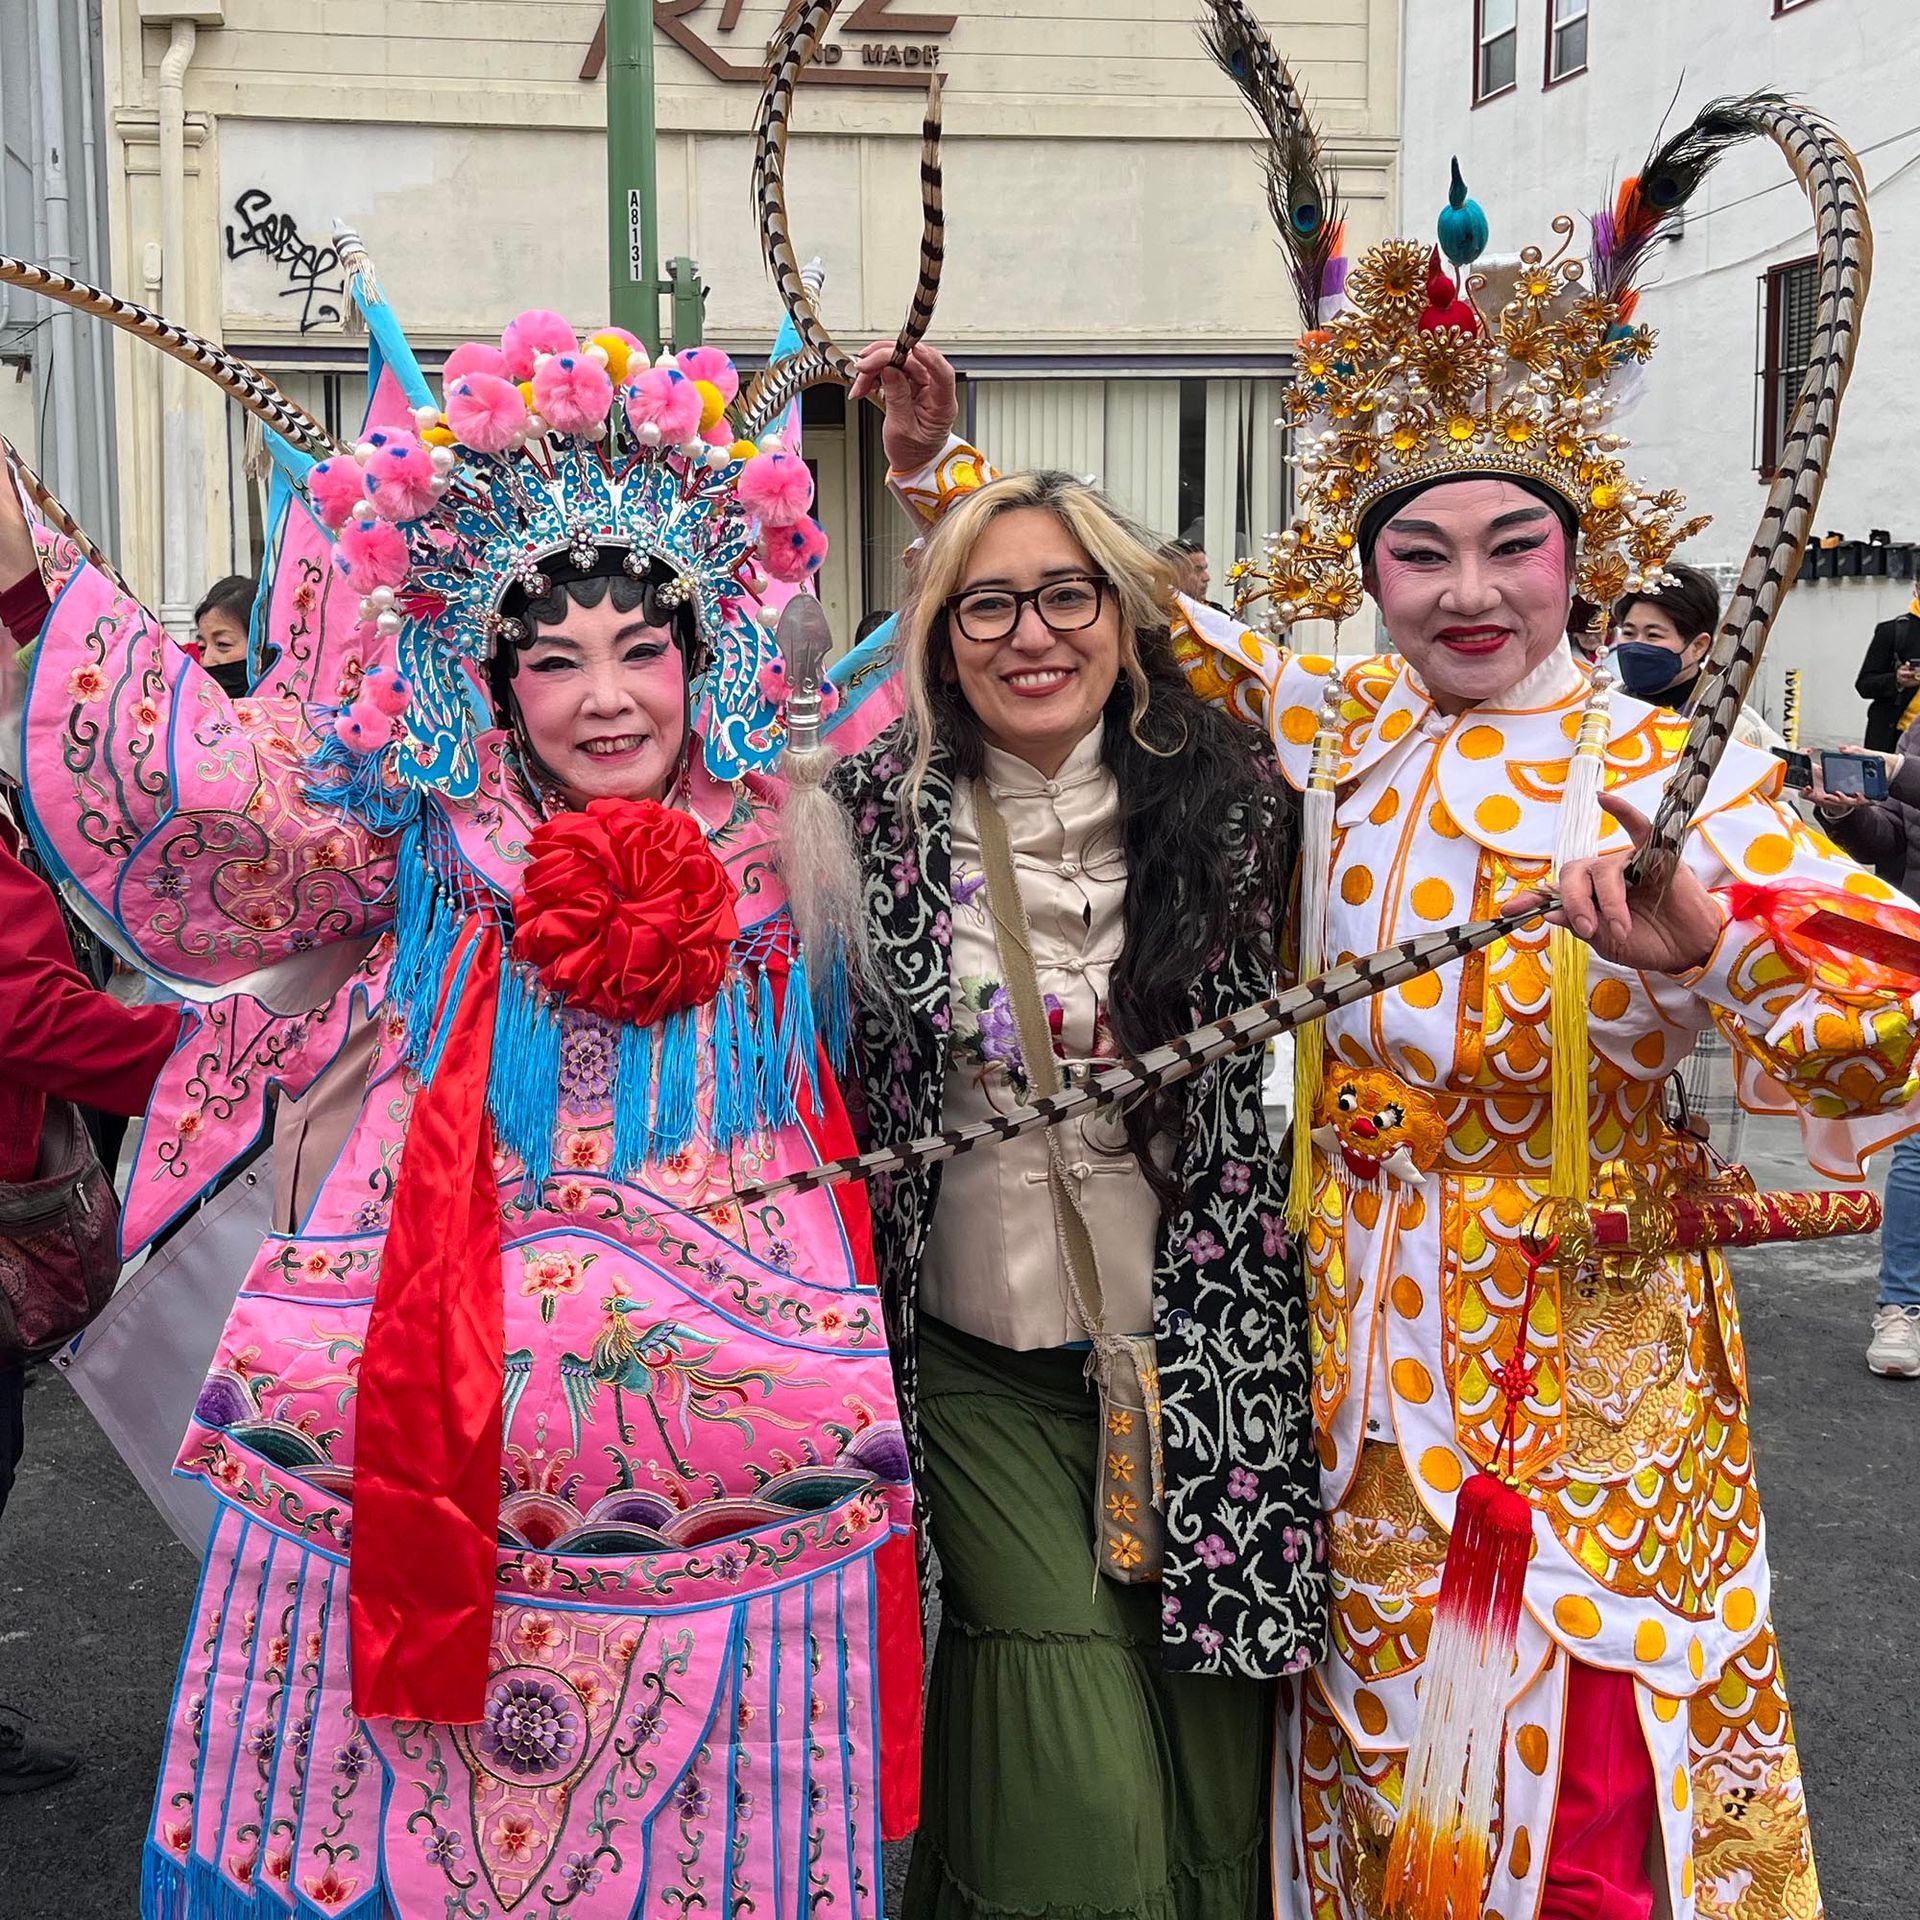
<svg viewBox="0 0 1920 1920">
<path fill-rule="evenodd" d="M 1751 1152 L 1755 1142 L 1764 1152 Z M 1809 1185 L 1755 1127 L 1766 1185 Z M 1832 1920 L 1910 1912 L 1920 1885 L 1920 1380 L 1862 1365 L 1876 1240 L 1741 1256 L 1774 1609 Z M 84 1753 L 0 1797 L 0 1920 L 131 1920 L 194 1561 L 52 1373 L 0 1523 L 0 1701 Z"/>
</svg>

